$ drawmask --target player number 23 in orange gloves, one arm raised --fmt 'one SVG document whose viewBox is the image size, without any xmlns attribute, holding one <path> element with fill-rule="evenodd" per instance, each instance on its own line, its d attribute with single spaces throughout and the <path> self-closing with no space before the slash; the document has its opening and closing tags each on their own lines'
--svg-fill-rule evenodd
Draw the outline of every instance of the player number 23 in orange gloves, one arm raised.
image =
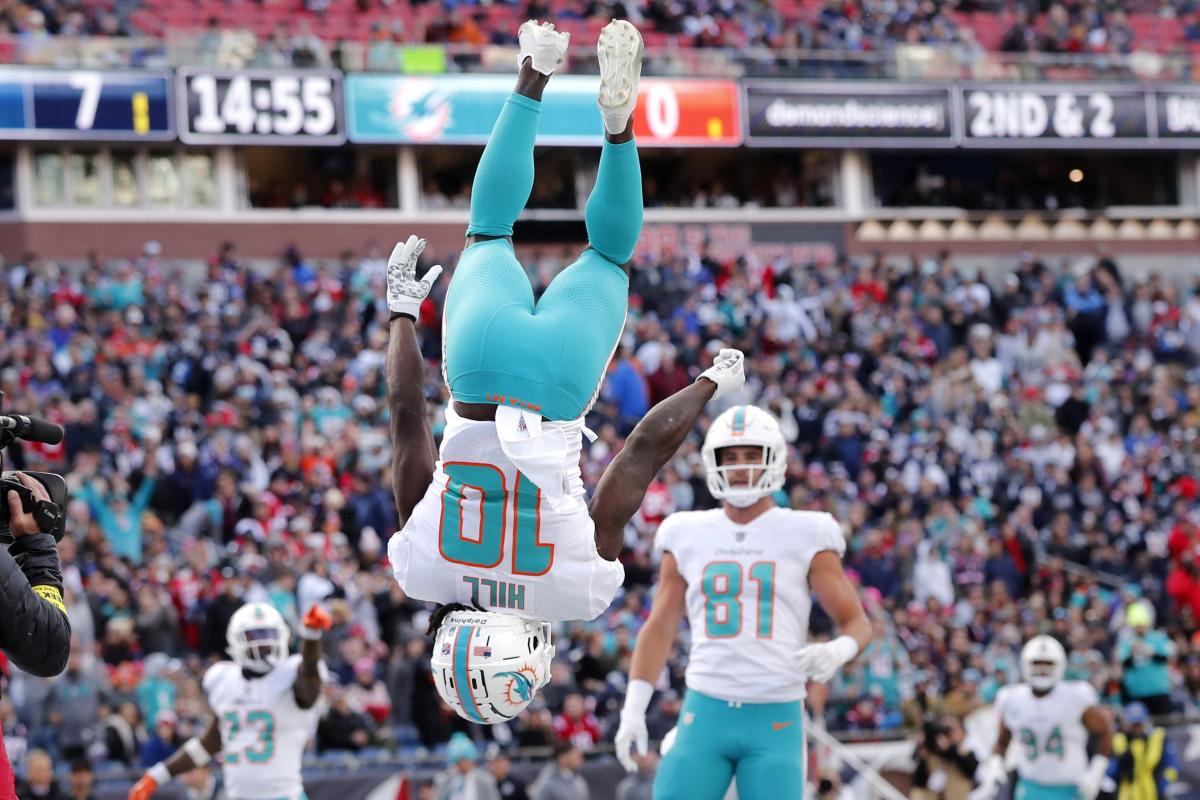
<svg viewBox="0 0 1200 800">
<path fill-rule="evenodd" d="M 300 760 L 317 729 L 320 636 L 332 625 L 313 606 L 300 627 L 300 652 L 288 655 L 288 625 L 272 606 L 247 603 L 229 620 L 232 661 L 204 673 L 202 686 L 214 718 L 175 754 L 146 770 L 130 800 L 148 800 L 176 775 L 204 766 L 217 753 L 226 796 L 234 800 L 300 800 Z"/>
</svg>

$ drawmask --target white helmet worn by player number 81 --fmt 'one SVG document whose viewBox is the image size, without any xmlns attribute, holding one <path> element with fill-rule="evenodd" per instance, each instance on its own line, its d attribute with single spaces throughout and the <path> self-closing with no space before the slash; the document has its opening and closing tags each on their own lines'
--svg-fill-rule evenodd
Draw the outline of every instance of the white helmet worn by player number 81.
<svg viewBox="0 0 1200 800">
<path fill-rule="evenodd" d="M 730 471 L 760 469 L 752 464 L 718 464 L 718 452 L 722 447 L 744 445 L 762 447 L 761 471 L 750 486 L 730 486 Z M 708 491 L 714 498 L 730 505 L 745 509 L 784 487 L 787 441 L 784 440 L 775 417 L 755 405 L 734 405 L 716 417 L 708 428 L 700 455 L 708 473 Z"/>
</svg>

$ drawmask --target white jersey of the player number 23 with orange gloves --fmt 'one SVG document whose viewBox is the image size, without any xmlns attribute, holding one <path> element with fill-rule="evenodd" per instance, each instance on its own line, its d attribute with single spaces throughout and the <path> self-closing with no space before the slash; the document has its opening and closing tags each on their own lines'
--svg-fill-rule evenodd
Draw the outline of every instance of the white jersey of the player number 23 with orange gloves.
<svg viewBox="0 0 1200 800">
<path fill-rule="evenodd" d="M 228 798 L 296 800 L 304 795 L 300 760 L 317 730 L 322 704 L 296 705 L 292 687 L 299 672 L 300 656 L 293 655 L 253 680 L 232 661 L 220 661 L 204 673 L 204 694 L 221 724 L 216 758 Z M 325 680 L 324 663 L 320 673 Z"/>
</svg>

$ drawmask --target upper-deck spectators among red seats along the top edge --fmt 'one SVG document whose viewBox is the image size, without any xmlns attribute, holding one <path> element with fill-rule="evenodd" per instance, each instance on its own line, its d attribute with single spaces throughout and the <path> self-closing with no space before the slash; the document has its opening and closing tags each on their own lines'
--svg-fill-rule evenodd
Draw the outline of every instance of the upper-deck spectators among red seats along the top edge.
<svg viewBox="0 0 1200 800">
<path fill-rule="evenodd" d="M 118 4 L 67 2 L 65 0 L 7 0 L 0 4 L 0 34 L 18 38 L 36 50 L 49 36 L 122 37 L 161 34 L 161 25 L 180 20 L 166 14 L 169 4 L 161 0 Z M 244 28 L 242 4 L 197 2 L 204 10 L 193 26 L 214 34 Z M 284 4 L 278 4 L 283 6 Z M 401 6 L 418 13 L 415 24 L 406 23 Z M 1181 41 L 1196 41 L 1200 29 L 1192 0 L 1163 2 L 1031 2 L 1019 0 L 823 0 L 811 2 L 762 4 L 748 0 L 707 2 L 700 0 L 520 0 L 481 2 L 452 0 L 438 4 L 445 13 L 422 14 L 427 0 L 401 4 L 395 0 L 302 0 L 290 11 L 308 12 L 295 20 L 281 20 L 270 34 L 260 35 L 258 49 L 272 66 L 289 59 L 295 66 L 329 66 L 337 58 L 338 40 L 361 38 L 371 44 L 418 42 L 451 44 L 512 44 L 516 25 L 526 18 L 546 18 L 560 25 L 602 24 L 625 18 L 638 25 L 653 41 L 700 48 L 785 48 L 805 50 L 888 52 L 899 44 L 932 44 L 954 48 L 960 58 L 986 50 L 1014 53 L 1109 53 L 1127 54 L 1135 47 L 1162 50 Z M 276 6 L 257 0 L 262 12 Z M 493 7 L 494 6 L 494 7 Z M 149 16 L 138 16 L 149 8 Z M 281 8 L 282 10 L 282 8 Z M 348 12 L 350 17 L 343 17 Z M 239 16 L 241 14 L 241 16 Z M 1171 20 L 1164 35 L 1139 41 L 1129 14 Z M 366 26 L 336 28 L 337 32 L 313 30 L 336 17 Z M 1175 24 L 1177 20 L 1177 24 Z M 322 43 L 320 38 L 325 38 Z M 330 47 L 332 46 L 332 47 Z M 395 66 L 392 56 L 383 61 Z"/>
</svg>

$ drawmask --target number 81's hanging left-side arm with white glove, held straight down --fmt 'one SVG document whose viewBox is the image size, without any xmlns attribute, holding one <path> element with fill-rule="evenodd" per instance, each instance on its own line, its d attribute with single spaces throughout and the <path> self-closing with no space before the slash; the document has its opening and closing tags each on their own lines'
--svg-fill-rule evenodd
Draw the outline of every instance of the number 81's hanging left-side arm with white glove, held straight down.
<svg viewBox="0 0 1200 800">
<path fill-rule="evenodd" d="M 634 657 L 629 664 L 629 688 L 625 692 L 625 705 L 620 710 L 620 724 L 617 727 L 617 760 L 630 772 L 637 771 L 630 751 L 636 746 L 638 754 L 644 756 L 649 745 L 646 709 L 654 694 L 654 681 L 671 655 L 671 645 L 674 644 L 679 620 L 683 619 L 686 593 L 688 582 L 679 575 L 674 555 L 664 553 L 658 588 L 654 590 L 654 606 L 646 625 L 637 632 L 637 643 L 634 645 Z"/>
</svg>

